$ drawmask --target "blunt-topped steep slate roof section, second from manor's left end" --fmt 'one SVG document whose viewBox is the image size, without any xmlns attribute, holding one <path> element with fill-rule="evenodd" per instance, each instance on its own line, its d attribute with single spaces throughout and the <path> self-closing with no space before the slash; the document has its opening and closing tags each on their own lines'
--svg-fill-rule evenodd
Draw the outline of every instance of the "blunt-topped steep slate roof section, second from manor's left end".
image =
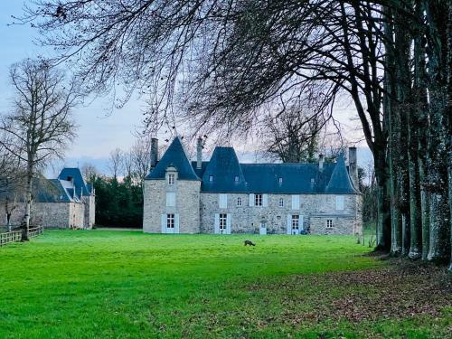
<svg viewBox="0 0 452 339">
<path fill-rule="evenodd" d="M 212 176 L 212 182 L 210 178 Z M 247 182 L 232 147 L 215 147 L 202 174 L 202 192 L 247 192 Z"/>
</svg>

